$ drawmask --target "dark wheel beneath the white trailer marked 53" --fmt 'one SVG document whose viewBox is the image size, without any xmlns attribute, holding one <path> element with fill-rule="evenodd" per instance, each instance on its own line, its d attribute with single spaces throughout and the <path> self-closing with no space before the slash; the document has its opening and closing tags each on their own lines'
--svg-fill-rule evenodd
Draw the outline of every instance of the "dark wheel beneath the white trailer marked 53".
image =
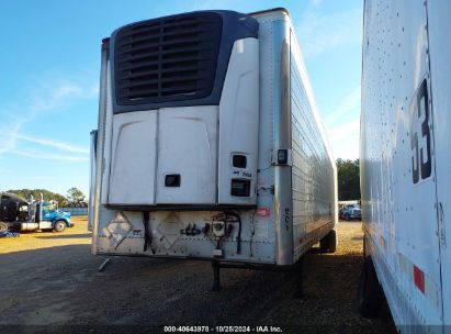
<svg viewBox="0 0 451 334">
<path fill-rule="evenodd" d="M 384 292 L 379 283 L 371 256 L 363 261 L 362 272 L 359 279 L 358 300 L 359 312 L 363 318 L 375 318 L 379 315 Z"/>
</svg>

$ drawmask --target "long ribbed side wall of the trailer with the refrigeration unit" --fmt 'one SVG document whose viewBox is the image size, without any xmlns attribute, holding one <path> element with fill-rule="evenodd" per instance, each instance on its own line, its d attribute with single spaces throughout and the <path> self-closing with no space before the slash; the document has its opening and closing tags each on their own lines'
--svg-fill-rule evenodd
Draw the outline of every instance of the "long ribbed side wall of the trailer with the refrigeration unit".
<svg viewBox="0 0 451 334">
<path fill-rule="evenodd" d="M 298 259 L 337 221 L 337 170 L 294 32 L 291 33 L 293 246 Z"/>
</svg>

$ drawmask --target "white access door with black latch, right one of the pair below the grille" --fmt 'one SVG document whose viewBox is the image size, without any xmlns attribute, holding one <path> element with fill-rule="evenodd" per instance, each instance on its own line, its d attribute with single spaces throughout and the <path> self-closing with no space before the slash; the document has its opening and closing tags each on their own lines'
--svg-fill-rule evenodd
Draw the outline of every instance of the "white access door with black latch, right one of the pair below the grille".
<svg viewBox="0 0 451 334">
<path fill-rule="evenodd" d="M 157 204 L 215 204 L 217 107 L 159 110 Z"/>
</svg>

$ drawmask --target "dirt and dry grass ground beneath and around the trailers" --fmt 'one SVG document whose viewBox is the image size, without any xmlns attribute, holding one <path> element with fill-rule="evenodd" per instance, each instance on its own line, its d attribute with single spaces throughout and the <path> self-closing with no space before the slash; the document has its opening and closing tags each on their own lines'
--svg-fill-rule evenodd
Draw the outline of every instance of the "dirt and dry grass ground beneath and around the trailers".
<svg viewBox="0 0 451 334">
<path fill-rule="evenodd" d="M 360 223 L 339 223 L 336 254 L 314 247 L 305 256 L 303 299 L 294 298 L 292 274 L 247 269 L 222 269 L 223 290 L 212 292 L 207 261 L 114 257 L 98 272 L 104 258 L 90 254 L 87 220 L 75 218 L 75 223 L 63 233 L 0 238 L 0 332 L 237 330 L 215 327 L 222 325 L 251 332 L 273 326 L 284 333 L 396 333 L 386 305 L 375 320 L 357 312 Z"/>
</svg>

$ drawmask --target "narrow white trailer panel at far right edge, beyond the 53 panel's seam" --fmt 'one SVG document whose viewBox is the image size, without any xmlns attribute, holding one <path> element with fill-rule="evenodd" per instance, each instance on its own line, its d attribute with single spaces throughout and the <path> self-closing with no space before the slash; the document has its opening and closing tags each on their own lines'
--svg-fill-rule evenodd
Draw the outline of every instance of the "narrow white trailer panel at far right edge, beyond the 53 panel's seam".
<svg viewBox="0 0 451 334">
<path fill-rule="evenodd" d="M 451 2 L 427 1 L 443 322 L 451 324 Z"/>
</svg>

